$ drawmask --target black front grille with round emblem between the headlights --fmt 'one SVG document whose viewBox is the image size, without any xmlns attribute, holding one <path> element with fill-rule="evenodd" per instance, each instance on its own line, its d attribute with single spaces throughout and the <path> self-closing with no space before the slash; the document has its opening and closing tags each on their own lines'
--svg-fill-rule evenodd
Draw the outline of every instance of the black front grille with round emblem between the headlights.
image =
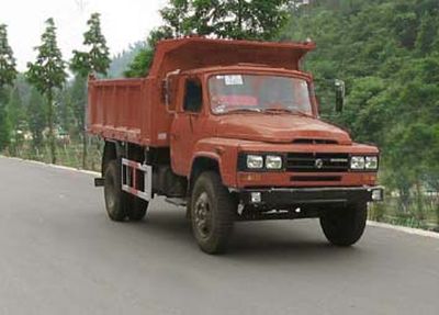
<svg viewBox="0 0 439 315">
<path fill-rule="evenodd" d="M 290 153 L 286 170 L 295 172 L 345 172 L 349 170 L 348 154 Z"/>
</svg>

